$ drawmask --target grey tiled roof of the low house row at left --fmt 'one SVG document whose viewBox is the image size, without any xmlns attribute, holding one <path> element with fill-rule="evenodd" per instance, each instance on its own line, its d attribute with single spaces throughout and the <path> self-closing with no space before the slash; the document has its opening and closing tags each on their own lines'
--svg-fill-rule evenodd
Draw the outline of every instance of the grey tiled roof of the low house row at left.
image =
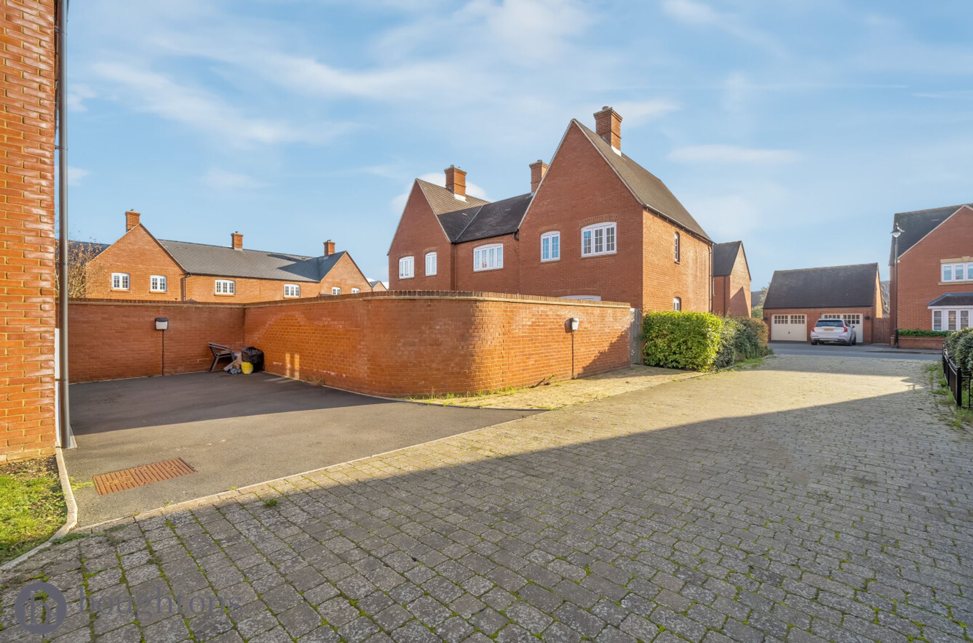
<svg viewBox="0 0 973 643">
<path fill-rule="evenodd" d="M 235 250 L 229 246 L 159 239 L 162 247 L 191 274 L 226 277 L 320 281 L 345 252 L 328 257 L 304 257 L 263 250 Z"/>
</svg>

